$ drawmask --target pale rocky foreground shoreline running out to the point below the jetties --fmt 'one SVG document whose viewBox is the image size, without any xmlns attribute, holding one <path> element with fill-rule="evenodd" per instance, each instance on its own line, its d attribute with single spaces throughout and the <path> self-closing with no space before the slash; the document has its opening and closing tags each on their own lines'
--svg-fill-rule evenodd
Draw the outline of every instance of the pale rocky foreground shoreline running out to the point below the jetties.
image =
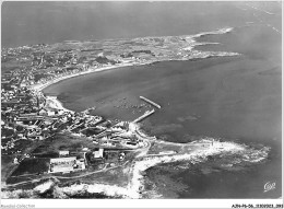
<svg viewBox="0 0 284 209">
<path fill-rule="evenodd" d="M 191 153 L 180 153 L 174 155 L 164 155 L 164 156 L 150 156 L 144 155 L 141 160 L 133 162 L 131 165 L 132 179 L 129 182 L 127 186 L 118 186 L 111 184 L 102 184 L 102 183 L 81 183 L 81 184 L 72 184 L 70 186 L 56 186 L 57 195 L 60 197 L 68 198 L 69 196 L 73 196 L 80 194 L 82 190 L 88 194 L 104 194 L 109 197 L 117 197 L 122 199 L 140 199 L 144 194 L 144 177 L 143 172 L 147 169 L 153 167 L 161 163 L 171 163 L 171 162 L 184 162 L 189 161 L 192 164 L 204 162 L 208 160 L 208 156 L 215 156 L 218 154 L 239 154 L 239 161 L 234 161 L 229 164 L 229 166 L 238 165 L 239 163 L 259 163 L 265 160 L 269 155 L 270 148 L 263 147 L 262 149 L 253 149 L 249 148 L 245 144 L 236 143 L 236 142 L 221 142 L 214 140 L 214 144 L 211 146 L 211 140 L 213 138 L 203 138 L 198 140 L 200 143 L 208 143 L 206 148 L 201 150 L 194 150 Z M 192 143 L 192 142 L 191 142 Z M 190 143 L 189 143 L 190 144 Z M 181 144 L 180 144 L 181 146 Z M 184 144 L 182 144 L 184 146 Z M 52 181 L 51 181 L 52 182 Z M 50 179 L 45 184 L 51 184 Z M 39 185 L 40 186 L 40 185 Z M 7 197 L 17 197 L 23 191 L 29 191 L 33 195 L 36 195 L 36 190 L 22 190 L 16 189 L 14 191 L 5 191 L 2 193 L 2 198 Z M 161 196 L 159 194 L 156 194 Z M 162 196 L 161 196 L 162 197 Z"/>
</svg>

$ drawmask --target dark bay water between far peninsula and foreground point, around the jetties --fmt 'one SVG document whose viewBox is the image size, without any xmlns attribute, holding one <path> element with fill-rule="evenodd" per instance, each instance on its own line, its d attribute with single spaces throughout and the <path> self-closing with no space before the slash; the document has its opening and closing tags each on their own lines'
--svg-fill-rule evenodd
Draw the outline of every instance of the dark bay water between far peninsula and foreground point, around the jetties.
<svg viewBox="0 0 284 209">
<path fill-rule="evenodd" d="M 200 49 L 241 56 L 119 68 L 61 81 L 44 92 L 58 95 L 67 108 L 96 106 L 94 114 L 121 120 L 133 120 L 145 111 L 131 107 L 141 104 L 143 95 L 162 105 L 143 123 L 145 131 L 159 139 L 189 142 L 210 136 L 271 147 L 265 161 L 236 170 L 220 166 L 222 160 L 149 169 L 145 198 L 153 193 L 164 198 L 281 197 L 281 35 L 252 25 L 200 39 L 222 43 Z M 276 188 L 263 193 L 268 182 L 275 182 Z"/>
</svg>

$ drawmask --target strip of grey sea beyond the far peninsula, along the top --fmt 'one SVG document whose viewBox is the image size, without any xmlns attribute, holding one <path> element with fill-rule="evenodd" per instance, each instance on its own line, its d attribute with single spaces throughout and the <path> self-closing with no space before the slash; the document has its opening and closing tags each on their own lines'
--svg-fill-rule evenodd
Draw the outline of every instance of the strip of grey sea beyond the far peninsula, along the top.
<svg viewBox="0 0 284 209">
<path fill-rule="evenodd" d="M 281 14 L 277 2 L 255 2 Z M 2 47 L 104 39 L 185 35 L 256 21 L 267 15 L 246 2 L 80 2 L 5 1 L 1 4 Z M 210 8 L 210 10 L 209 10 Z M 271 23 L 281 31 L 281 18 Z"/>
</svg>

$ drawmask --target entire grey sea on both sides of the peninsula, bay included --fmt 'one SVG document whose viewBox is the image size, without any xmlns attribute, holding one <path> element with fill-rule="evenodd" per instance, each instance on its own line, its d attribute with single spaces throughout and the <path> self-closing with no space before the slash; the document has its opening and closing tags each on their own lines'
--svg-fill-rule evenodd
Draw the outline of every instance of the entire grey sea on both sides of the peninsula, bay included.
<svg viewBox="0 0 284 209">
<path fill-rule="evenodd" d="M 74 14 L 78 10 L 85 10 L 85 19 L 72 19 L 79 25 L 92 18 L 91 8 L 100 9 L 100 15 L 103 11 L 108 12 L 100 19 L 104 20 L 104 23 L 99 22 L 100 25 L 95 25 L 98 20 L 88 22 L 93 31 L 87 28 L 87 32 L 83 32 L 83 25 L 67 24 L 66 31 L 59 30 L 61 35 L 48 34 L 54 39 L 43 39 L 49 43 L 60 42 L 62 37 L 92 38 L 92 33 L 96 34 L 97 38 L 114 37 L 115 33 L 121 37 L 191 35 L 229 26 L 233 27 L 230 33 L 198 38 L 199 42 L 220 43 L 199 46 L 198 49 L 234 51 L 240 56 L 117 68 L 61 81 L 46 88 L 44 93 L 57 95 L 69 109 L 81 112 L 95 107 L 93 114 L 119 120 L 133 120 L 142 115 L 146 108 L 135 106 L 142 104 L 139 96 L 145 96 L 162 106 L 162 109 L 142 123 L 143 129 L 158 139 L 186 143 L 192 138 L 212 137 L 252 147 L 271 148 L 269 158 L 264 161 L 236 170 L 220 166 L 222 159 L 214 163 L 175 162 L 150 167 L 143 174 L 144 198 L 280 198 L 281 5 L 276 2 L 273 2 L 276 5 L 265 3 L 256 5 L 263 10 L 256 10 L 244 2 L 178 2 L 175 7 L 179 12 L 174 11 L 173 2 L 100 3 L 92 7 L 80 4 L 81 7 L 72 10 L 63 4 L 58 4 L 57 10 L 50 5 L 48 12 L 61 16 L 59 22 L 66 19 L 64 15 L 68 14 L 64 12 L 69 10 Z M 37 4 L 34 7 L 40 8 Z M 61 14 L 58 12 L 60 9 L 64 11 Z M 268 13 L 264 9 L 273 11 L 273 14 L 269 14 L 271 12 Z M 45 10 L 44 15 L 48 15 L 48 12 Z M 34 13 L 29 15 L 36 16 Z M 121 14 L 122 18 L 117 19 L 115 14 Z M 17 16 L 14 19 L 17 20 Z M 54 18 L 48 19 L 52 22 Z M 107 23 L 114 20 L 118 20 L 118 23 L 110 30 Z M 21 24 L 31 24 L 25 23 L 25 19 L 21 21 Z M 38 21 L 36 25 L 39 24 Z M 52 26 L 51 24 L 50 28 Z M 11 26 L 11 30 L 14 30 L 14 26 Z M 38 35 L 47 28 L 40 30 Z M 72 36 L 67 37 L 66 34 L 72 30 Z M 26 34 L 28 33 L 29 31 L 26 31 Z M 3 35 L 2 38 L 7 38 L 5 43 L 9 45 L 10 37 Z M 32 43 L 28 35 L 25 35 L 25 38 L 23 43 Z M 275 183 L 275 188 L 265 191 L 267 183 Z"/>
</svg>

